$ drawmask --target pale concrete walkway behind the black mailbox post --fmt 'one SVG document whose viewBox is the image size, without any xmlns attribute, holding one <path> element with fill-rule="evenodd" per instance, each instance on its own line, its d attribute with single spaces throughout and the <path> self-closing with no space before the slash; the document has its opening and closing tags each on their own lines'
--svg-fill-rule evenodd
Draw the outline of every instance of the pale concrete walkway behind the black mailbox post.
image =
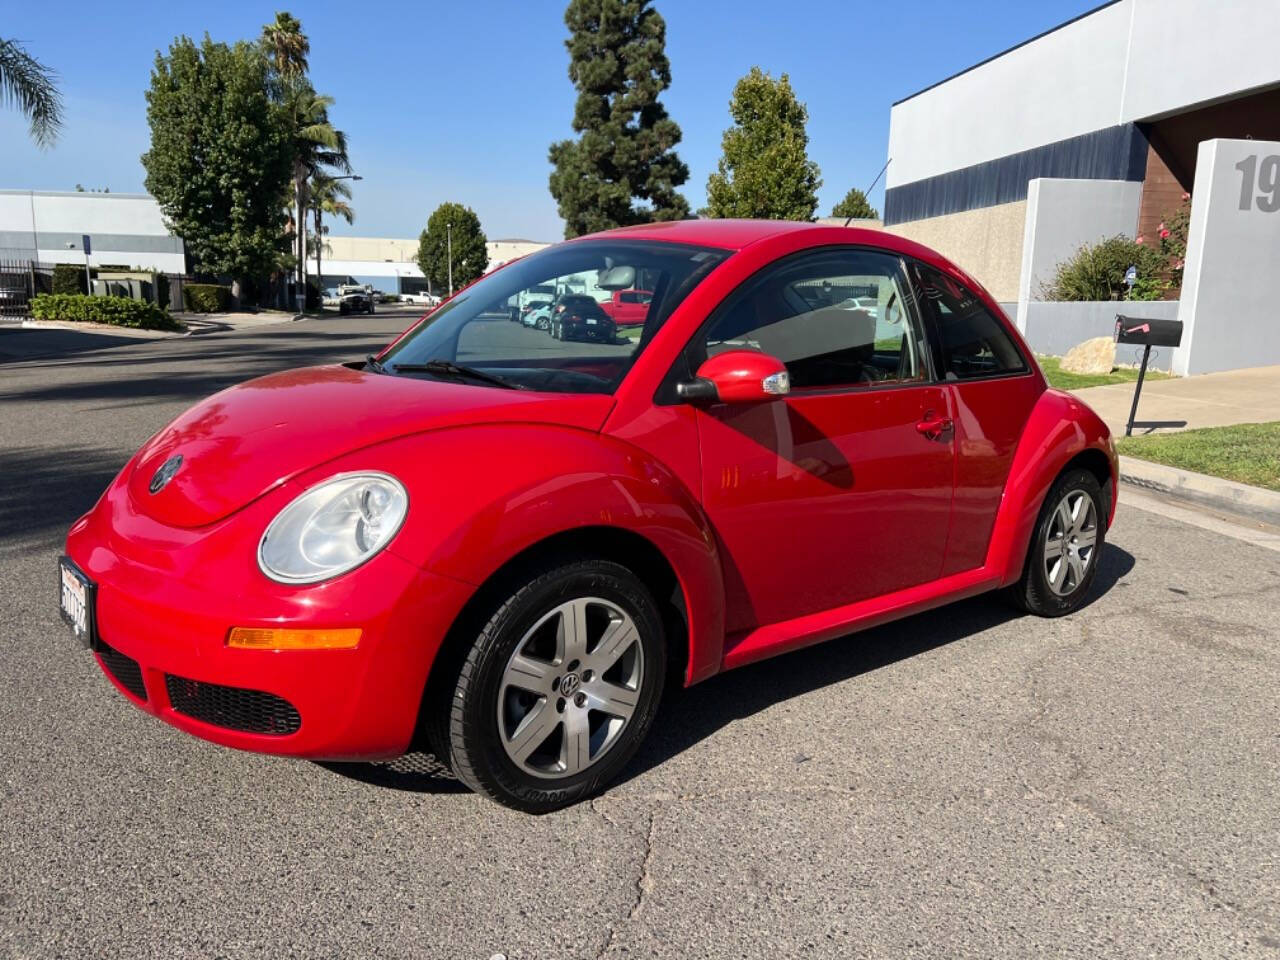
<svg viewBox="0 0 1280 960">
<path fill-rule="evenodd" d="M 1124 436 L 1133 390 L 1134 384 L 1117 383 L 1073 393 L 1097 411 L 1112 434 Z M 1260 366 L 1147 380 L 1142 385 L 1133 435 L 1272 420 L 1280 420 L 1280 366 Z"/>
</svg>

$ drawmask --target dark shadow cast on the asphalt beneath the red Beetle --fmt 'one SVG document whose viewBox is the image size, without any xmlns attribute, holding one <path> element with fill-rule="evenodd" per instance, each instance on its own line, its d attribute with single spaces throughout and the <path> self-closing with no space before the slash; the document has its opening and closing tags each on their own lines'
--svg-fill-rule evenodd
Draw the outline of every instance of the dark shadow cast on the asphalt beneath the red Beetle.
<svg viewBox="0 0 1280 960">
<path fill-rule="evenodd" d="M 1133 567 L 1133 554 L 1106 544 L 1093 588 L 1082 609 L 1108 593 Z M 653 730 L 617 782 L 625 783 L 666 763 L 736 719 L 1025 616 L 1000 596 L 986 594 L 740 667 L 689 690 L 668 690 Z M 420 794 L 467 790 L 447 764 L 425 751 L 381 763 L 317 765 L 361 783 L 393 790 Z"/>
</svg>

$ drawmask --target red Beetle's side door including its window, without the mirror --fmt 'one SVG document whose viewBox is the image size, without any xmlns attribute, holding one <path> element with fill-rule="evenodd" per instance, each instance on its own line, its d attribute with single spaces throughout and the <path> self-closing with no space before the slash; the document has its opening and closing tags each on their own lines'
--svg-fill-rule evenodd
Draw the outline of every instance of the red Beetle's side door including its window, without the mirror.
<svg viewBox="0 0 1280 960">
<path fill-rule="evenodd" d="M 809 251 L 742 284 L 690 344 L 691 370 L 746 348 L 791 378 L 787 397 L 696 413 L 730 634 L 940 575 L 951 412 L 910 291 L 896 256 Z"/>
</svg>

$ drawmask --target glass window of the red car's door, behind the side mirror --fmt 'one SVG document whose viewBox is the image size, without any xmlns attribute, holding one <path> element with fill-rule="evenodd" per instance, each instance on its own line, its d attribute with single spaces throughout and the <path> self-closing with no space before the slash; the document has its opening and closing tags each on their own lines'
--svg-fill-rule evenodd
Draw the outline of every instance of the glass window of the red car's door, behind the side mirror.
<svg viewBox="0 0 1280 960">
<path fill-rule="evenodd" d="M 760 271 L 716 311 L 692 367 L 726 349 L 786 364 L 795 389 L 928 379 L 925 346 L 897 257 L 827 250 Z"/>
</svg>

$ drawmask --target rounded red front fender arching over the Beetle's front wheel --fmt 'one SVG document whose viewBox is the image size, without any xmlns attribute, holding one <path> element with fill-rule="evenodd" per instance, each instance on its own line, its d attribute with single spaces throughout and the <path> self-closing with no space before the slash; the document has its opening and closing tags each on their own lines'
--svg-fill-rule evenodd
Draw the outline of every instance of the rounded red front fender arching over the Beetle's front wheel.
<svg viewBox="0 0 1280 960">
<path fill-rule="evenodd" d="M 594 431 L 520 422 L 389 440 L 320 472 L 348 470 L 383 470 L 408 488 L 408 516 L 389 552 L 472 588 L 557 534 L 614 527 L 643 536 L 666 558 L 684 598 L 686 685 L 719 669 L 724 584 L 716 538 L 685 485 L 653 456 Z"/>
</svg>

